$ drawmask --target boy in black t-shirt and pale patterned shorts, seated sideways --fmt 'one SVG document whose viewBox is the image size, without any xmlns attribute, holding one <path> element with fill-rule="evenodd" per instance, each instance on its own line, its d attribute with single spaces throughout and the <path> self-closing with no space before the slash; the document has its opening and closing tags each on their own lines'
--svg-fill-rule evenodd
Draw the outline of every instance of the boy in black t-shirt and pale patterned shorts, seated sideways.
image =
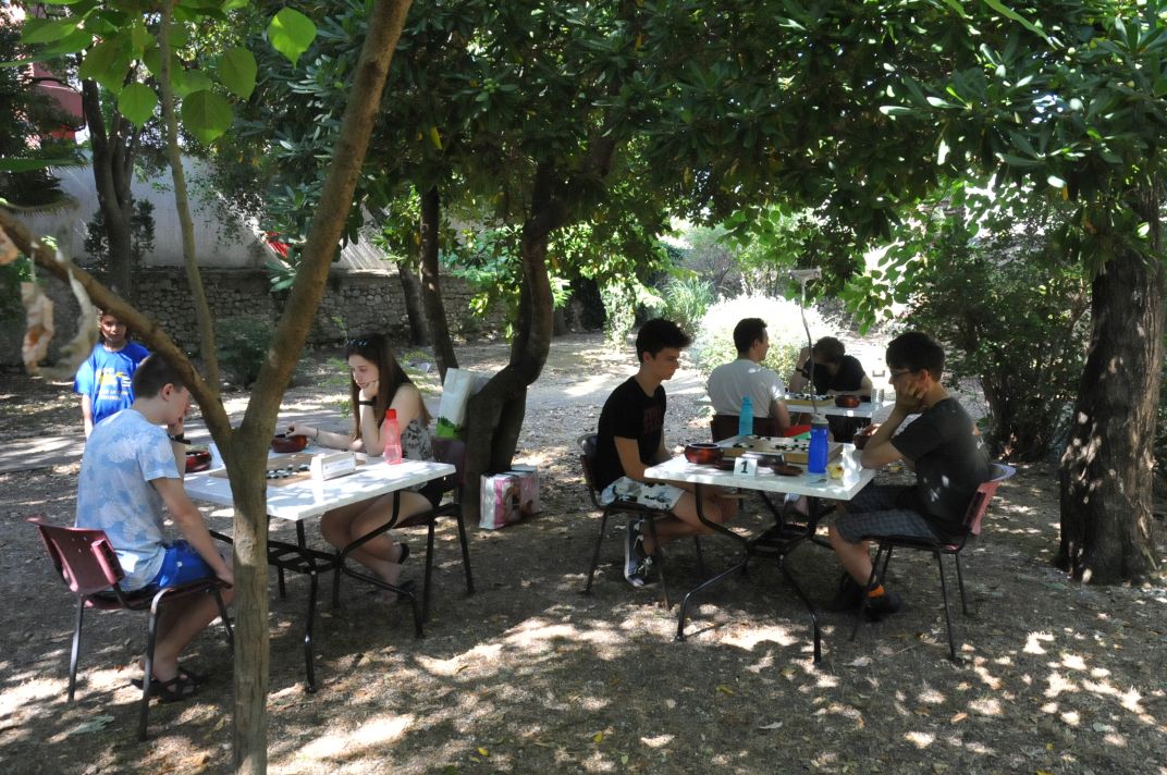
<svg viewBox="0 0 1167 775">
<path fill-rule="evenodd" d="M 650 320 L 636 336 L 636 359 L 640 369 L 608 397 L 600 412 L 596 439 L 595 475 L 601 501 L 635 501 L 671 516 L 657 519 L 657 539 L 664 544 L 682 536 L 708 533 L 697 517 L 697 500 L 691 484 L 665 484 L 644 480 L 644 470 L 669 460 L 664 446 L 665 393 L 662 383 L 677 371 L 682 349 L 689 336 L 668 320 Z M 736 510 L 736 502 L 726 501 L 707 488 L 701 511 L 712 522 L 721 523 Z M 659 546 L 636 523 L 628 531 L 624 550 L 624 578 L 634 587 L 644 585 L 651 558 Z"/>
</svg>

